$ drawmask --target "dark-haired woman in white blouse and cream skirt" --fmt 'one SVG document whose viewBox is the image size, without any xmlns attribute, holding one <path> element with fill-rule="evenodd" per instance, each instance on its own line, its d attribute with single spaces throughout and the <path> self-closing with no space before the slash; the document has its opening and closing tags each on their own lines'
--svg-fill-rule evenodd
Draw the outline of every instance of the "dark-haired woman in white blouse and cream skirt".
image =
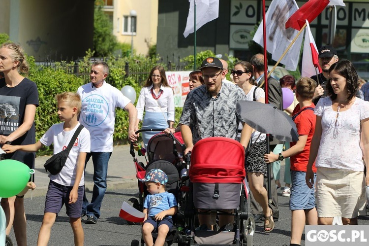
<svg viewBox="0 0 369 246">
<path fill-rule="evenodd" d="M 314 110 L 306 181 L 310 188 L 314 185 L 311 167 L 316 158 L 318 224 L 330 225 L 335 216 L 341 216 L 344 225 L 352 225 L 365 207 L 365 182 L 369 185 L 369 102 L 355 97 L 358 75 L 351 62 L 333 64 L 329 79 L 329 97 L 321 98 Z"/>
</svg>

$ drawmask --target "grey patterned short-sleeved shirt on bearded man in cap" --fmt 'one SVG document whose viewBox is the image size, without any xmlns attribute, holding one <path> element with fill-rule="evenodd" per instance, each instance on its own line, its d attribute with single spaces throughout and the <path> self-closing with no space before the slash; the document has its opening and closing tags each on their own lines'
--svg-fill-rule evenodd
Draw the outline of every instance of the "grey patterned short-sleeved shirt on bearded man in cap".
<svg viewBox="0 0 369 246">
<path fill-rule="evenodd" d="M 236 104 L 245 101 L 244 91 L 233 84 L 222 83 L 218 95 L 213 98 L 206 86 L 190 91 L 184 102 L 180 123 L 192 130 L 192 141 L 209 137 L 236 139 L 238 122 L 244 122 L 236 113 Z"/>
</svg>

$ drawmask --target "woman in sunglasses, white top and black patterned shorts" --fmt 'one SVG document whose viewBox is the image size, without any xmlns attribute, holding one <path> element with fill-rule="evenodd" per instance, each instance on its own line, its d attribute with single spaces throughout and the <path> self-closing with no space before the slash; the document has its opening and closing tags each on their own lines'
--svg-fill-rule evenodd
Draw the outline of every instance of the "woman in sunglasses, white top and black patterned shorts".
<svg viewBox="0 0 369 246">
<path fill-rule="evenodd" d="M 233 81 L 244 90 L 247 100 L 264 104 L 264 90 L 254 85 L 252 70 L 252 65 L 249 62 L 240 61 L 236 63 L 231 71 Z M 264 160 L 264 154 L 267 151 L 266 134 L 253 130 L 251 145 L 252 147 L 249 148 L 246 156 L 248 184 L 255 201 L 263 208 L 265 216 L 264 232 L 271 232 L 274 229 L 274 221 L 272 210 L 268 207 L 268 193 L 264 188 L 264 176 L 267 176 L 267 164 Z"/>
</svg>

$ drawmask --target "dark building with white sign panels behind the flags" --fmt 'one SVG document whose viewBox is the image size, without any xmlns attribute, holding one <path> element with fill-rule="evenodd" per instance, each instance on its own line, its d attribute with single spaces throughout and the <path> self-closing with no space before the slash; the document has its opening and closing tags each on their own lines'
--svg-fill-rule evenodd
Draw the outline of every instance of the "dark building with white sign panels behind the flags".
<svg viewBox="0 0 369 246">
<path fill-rule="evenodd" d="M 297 0 L 299 6 L 306 0 Z M 333 46 L 339 58 L 351 61 L 369 59 L 369 2 L 344 0 L 337 6 L 337 28 Z M 271 1 L 266 1 L 266 7 Z M 157 52 L 161 56 L 193 54 L 194 35 L 184 38 L 188 0 L 159 0 Z M 215 54 L 233 55 L 249 60 L 254 54 L 248 47 L 250 35 L 262 20 L 261 0 L 219 0 L 219 17 L 200 28 L 196 35 L 197 52 L 212 50 Z M 328 42 L 329 7 L 310 23 L 318 47 Z"/>
</svg>

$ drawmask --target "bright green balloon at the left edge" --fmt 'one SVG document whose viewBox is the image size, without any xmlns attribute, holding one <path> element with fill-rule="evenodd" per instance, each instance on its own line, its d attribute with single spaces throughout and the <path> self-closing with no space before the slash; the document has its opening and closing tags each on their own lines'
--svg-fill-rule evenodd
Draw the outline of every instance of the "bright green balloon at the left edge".
<svg viewBox="0 0 369 246">
<path fill-rule="evenodd" d="M 0 197 L 19 194 L 30 180 L 30 168 L 16 160 L 0 161 Z"/>
</svg>

